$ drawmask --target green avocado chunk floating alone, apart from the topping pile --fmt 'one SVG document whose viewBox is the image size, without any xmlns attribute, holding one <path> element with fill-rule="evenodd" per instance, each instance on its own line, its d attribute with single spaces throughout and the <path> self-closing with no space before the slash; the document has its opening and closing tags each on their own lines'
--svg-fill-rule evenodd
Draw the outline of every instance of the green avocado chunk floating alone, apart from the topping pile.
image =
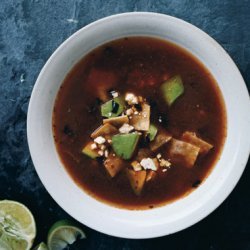
<svg viewBox="0 0 250 250">
<path fill-rule="evenodd" d="M 161 91 L 168 106 L 184 93 L 184 85 L 179 75 L 172 77 L 161 85 Z"/>
</svg>

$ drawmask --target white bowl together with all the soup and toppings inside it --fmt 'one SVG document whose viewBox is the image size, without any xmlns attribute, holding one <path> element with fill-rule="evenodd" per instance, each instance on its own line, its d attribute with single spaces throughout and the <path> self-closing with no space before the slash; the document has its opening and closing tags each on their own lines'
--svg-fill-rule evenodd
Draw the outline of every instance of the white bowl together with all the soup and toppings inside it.
<svg viewBox="0 0 250 250">
<path fill-rule="evenodd" d="M 71 36 L 41 71 L 28 111 L 31 156 L 52 197 L 126 238 L 174 233 L 212 212 L 243 172 L 248 126 L 249 96 L 226 52 L 155 13 L 115 15 Z"/>
</svg>

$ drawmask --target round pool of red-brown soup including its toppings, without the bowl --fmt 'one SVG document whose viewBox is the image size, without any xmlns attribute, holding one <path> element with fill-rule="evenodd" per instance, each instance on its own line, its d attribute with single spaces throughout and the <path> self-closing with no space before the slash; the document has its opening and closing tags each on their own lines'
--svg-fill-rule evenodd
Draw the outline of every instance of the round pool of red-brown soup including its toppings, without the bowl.
<svg viewBox="0 0 250 250">
<path fill-rule="evenodd" d="M 154 208 L 190 193 L 220 156 L 226 112 L 217 83 L 184 49 L 125 37 L 91 51 L 57 94 L 61 161 L 89 194 Z"/>
</svg>

